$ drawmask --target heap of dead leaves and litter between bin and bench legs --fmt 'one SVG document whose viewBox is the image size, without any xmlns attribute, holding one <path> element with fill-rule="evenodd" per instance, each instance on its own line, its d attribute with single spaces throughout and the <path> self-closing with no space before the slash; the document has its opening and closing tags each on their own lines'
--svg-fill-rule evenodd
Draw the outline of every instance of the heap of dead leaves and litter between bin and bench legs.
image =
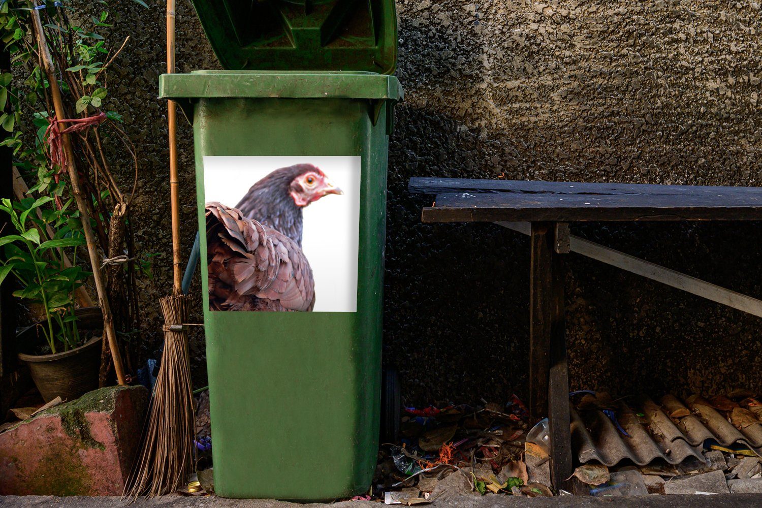
<svg viewBox="0 0 762 508">
<path fill-rule="evenodd" d="M 410 504 L 422 502 L 417 498 L 428 501 L 453 494 L 546 495 L 547 484 L 545 489 L 533 487 L 537 492 L 523 491 L 530 483 L 523 461 L 526 407 L 515 395 L 507 404 L 483 402 L 476 407 L 406 407 L 401 443 L 383 445 L 379 451 L 374 497 Z M 542 471 L 540 461 L 547 462 L 547 452 L 538 449 L 536 454 L 541 457 L 536 468 Z M 545 478 L 549 483 L 549 472 Z M 418 493 L 398 494 L 409 488 Z"/>
</svg>

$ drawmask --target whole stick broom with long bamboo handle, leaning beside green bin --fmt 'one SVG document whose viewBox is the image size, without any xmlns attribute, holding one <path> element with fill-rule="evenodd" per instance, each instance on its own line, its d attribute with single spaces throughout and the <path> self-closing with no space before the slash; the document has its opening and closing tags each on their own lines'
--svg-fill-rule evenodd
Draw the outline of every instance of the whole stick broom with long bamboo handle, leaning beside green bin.
<svg viewBox="0 0 762 508">
<path fill-rule="evenodd" d="M 174 0 L 167 1 L 167 72 L 174 72 Z M 126 485 L 131 497 L 171 494 L 193 470 L 194 400 L 188 360 L 187 300 L 181 292 L 177 115 L 168 101 L 169 190 L 172 217 L 173 294 L 160 300 L 164 353 L 159 366 L 142 449 Z"/>
</svg>

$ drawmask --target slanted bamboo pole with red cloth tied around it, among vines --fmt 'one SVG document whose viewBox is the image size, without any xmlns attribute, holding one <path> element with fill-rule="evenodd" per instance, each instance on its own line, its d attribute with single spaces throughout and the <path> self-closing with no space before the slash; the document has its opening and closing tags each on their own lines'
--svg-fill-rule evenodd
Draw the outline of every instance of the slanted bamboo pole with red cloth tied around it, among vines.
<svg viewBox="0 0 762 508">
<path fill-rule="evenodd" d="M 50 85 L 50 95 L 53 97 L 53 109 L 56 112 L 56 118 L 59 120 L 66 118 L 66 112 L 63 109 L 63 101 L 61 98 L 61 91 L 58 87 L 58 79 L 56 78 L 56 68 L 53 64 L 53 58 L 50 56 L 50 50 L 48 50 L 47 41 L 45 40 L 45 33 L 43 32 L 43 24 L 40 21 L 40 11 L 34 9 L 37 7 L 37 0 L 32 0 L 33 9 L 31 11 L 32 21 L 34 22 L 34 31 L 37 32 L 37 50 L 40 52 L 40 57 L 43 62 L 43 68 L 47 75 L 48 84 Z M 103 330 L 108 340 L 108 345 L 111 349 L 111 357 L 114 359 L 114 370 L 117 372 L 117 381 L 120 385 L 126 384 L 124 378 L 124 369 L 122 366 L 122 356 L 119 352 L 119 346 L 117 345 L 117 335 L 114 332 L 114 319 L 111 317 L 111 308 L 108 305 L 108 296 L 106 292 L 106 286 L 101 276 L 101 261 L 98 259 L 98 248 L 95 243 L 95 235 L 90 224 L 90 210 L 88 209 L 88 203 L 85 200 L 85 196 L 82 193 L 82 187 L 79 184 L 79 174 L 74 164 L 74 151 L 72 150 L 72 140 L 69 139 L 68 134 L 62 134 L 63 152 L 66 156 L 66 170 L 69 172 L 69 180 L 72 181 L 72 193 L 74 199 L 77 202 L 77 208 L 79 209 L 79 215 L 82 219 L 82 230 L 85 232 L 85 241 L 88 245 L 88 254 L 90 256 L 90 265 L 93 271 L 93 280 L 95 283 L 95 289 L 98 291 L 98 305 L 101 306 L 101 312 L 103 313 Z"/>
</svg>

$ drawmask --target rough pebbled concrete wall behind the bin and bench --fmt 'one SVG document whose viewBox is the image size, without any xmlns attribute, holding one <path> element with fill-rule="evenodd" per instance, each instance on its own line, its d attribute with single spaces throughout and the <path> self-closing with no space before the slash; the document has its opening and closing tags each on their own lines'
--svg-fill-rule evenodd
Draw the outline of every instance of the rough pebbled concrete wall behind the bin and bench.
<svg viewBox="0 0 762 508">
<path fill-rule="evenodd" d="M 755 2 L 402 0 L 389 159 L 386 363 L 412 404 L 527 395 L 528 244 L 495 225 L 421 225 L 411 176 L 759 185 L 760 8 Z M 163 13 L 129 8 L 123 107 L 141 143 L 135 223 L 163 254 L 146 284 L 146 337 L 171 276 Z M 217 68 L 190 2 L 178 5 L 178 66 Z M 183 216 L 194 224 L 191 130 L 181 129 Z M 762 296 L 760 225 L 584 225 L 573 231 Z M 191 228 L 184 229 L 190 246 Z M 760 320 L 637 276 L 568 258 L 574 388 L 762 389 Z M 200 315 L 198 286 L 196 318 Z M 203 344 L 194 340 L 200 358 Z M 196 369 L 197 383 L 203 365 Z"/>
</svg>

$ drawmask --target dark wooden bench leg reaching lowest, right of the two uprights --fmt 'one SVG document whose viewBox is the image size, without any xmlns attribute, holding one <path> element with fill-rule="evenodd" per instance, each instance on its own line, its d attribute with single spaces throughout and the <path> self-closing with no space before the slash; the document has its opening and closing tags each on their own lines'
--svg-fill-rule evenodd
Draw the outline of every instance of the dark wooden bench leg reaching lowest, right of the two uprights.
<svg viewBox="0 0 762 508">
<path fill-rule="evenodd" d="M 550 330 L 549 430 L 550 478 L 556 489 L 568 490 L 571 482 L 571 422 L 569 417 L 568 357 L 564 318 L 564 268 L 562 255 L 551 254 L 552 324 Z"/>
</svg>

